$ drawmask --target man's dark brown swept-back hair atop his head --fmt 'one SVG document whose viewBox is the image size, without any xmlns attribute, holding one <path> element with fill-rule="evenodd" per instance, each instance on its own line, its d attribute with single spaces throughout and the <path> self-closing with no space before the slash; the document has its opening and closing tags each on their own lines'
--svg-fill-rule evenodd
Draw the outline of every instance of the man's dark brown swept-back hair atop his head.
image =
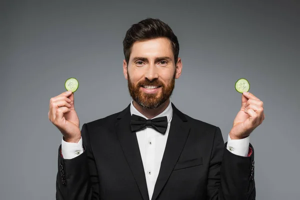
<svg viewBox="0 0 300 200">
<path fill-rule="evenodd" d="M 173 33 L 170 26 L 159 19 L 146 18 L 138 23 L 132 24 L 127 30 L 123 40 L 123 52 L 126 63 L 128 64 L 131 53 L 132 44 L 135 41 L 143 41 L 157 37 L 166 37 L 171 41 L 172 51 L 174 55 L 175 64 L 178 59 L 179 43 L 176 35 Z"/>
</svg>

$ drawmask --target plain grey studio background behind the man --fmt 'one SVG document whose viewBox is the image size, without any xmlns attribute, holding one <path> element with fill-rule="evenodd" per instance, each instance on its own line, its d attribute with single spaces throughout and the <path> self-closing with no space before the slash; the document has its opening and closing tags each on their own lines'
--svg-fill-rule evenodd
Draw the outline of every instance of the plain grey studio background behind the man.
<svg viewBox="0 0 300 200">
<path fill-rule="evenodd" d="M 281 1 L 1 1 L 0 199 L 54 199 L 58 129 L 52 96 L 79 80 L 82 124 L 120 111 L 130 96 L 122 39 L 146 17 L 177 35 L 182 75 L 171 101 L 221 128 L 226 141 L 240 108 L 235 81 L 245 77 L 264 102 L 251 134 L 256 199 L 299 197 L 300 6 Z"/>
</svg>

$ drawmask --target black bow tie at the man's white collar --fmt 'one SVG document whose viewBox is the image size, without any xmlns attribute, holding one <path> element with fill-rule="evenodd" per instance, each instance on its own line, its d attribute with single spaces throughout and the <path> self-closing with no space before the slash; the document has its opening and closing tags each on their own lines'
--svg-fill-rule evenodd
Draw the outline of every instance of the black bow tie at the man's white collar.
<svg viewBox="0 0 300 200">
<path fill-rule="evenodd" d="M 131 131 L 144 129 L 146 126 L 151 126 L 158 132 L 164 134 L 167 127 L 167 117 L 161 116 L 153 119 L 145 119 L 144 117 L 132 114 L 130 121 Z"/>
</svg>

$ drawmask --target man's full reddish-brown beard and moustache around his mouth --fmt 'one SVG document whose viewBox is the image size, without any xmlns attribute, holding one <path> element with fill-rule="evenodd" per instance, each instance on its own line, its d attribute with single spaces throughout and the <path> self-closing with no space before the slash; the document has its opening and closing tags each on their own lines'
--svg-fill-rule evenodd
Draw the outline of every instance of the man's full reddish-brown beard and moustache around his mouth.
<svg viewBox="0 0 300 200">
<path fill-rule="evenodd" d="M 157 78 L 153 80 L 149 80 L 145 78 L 144 80 L 134 85 L 131 83 L 129 74 L 127 72 L 127 76 L 128 76 L 127 83 L 128 83 L 130 96 L 135 102 L 137 102 L 137 104 L 139 104 L 144 108 L 154 109 L 159 107 L 171 96 L 173 92 L 175 86 L 175 73 L 176 71 L 174 72 L 171 82 L 168 85 L 164 85 Z M 161 88 L 161 92 L 158 91 L 156 93 L 144 93 L 139 89 L 142 85 L 159 86 Z"/>
</svg>

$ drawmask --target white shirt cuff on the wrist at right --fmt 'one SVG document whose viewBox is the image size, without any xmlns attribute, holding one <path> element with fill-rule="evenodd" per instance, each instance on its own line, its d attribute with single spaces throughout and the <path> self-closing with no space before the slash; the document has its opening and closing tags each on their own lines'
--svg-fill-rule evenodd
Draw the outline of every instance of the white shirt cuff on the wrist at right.
<svg viewBox="0 0 300 200">
<path fill-rule="evenodd" d="M 226 148 L 235 155 L 247 157 L 249 153 L 250 136 L 243 139 L 231 139 L 228 134 Z"/>
</svg>

